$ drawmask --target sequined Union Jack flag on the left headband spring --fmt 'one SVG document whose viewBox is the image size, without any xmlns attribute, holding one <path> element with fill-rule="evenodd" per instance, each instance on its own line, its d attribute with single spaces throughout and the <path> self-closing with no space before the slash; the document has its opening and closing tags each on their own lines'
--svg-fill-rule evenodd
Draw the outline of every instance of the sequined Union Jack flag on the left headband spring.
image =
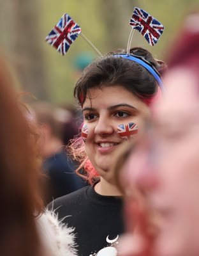
<svg viewBox="0 0 199 256">
<path fill-rule="evenodd" d="M 50 31 L 45 40 L 48 44 L 54 46 L 57 51 L 65 55 L 70 45 L 75 41 L 82 32 L 80 26 L 65 13 L 59 20 L 54 29 Z"/>
</svg>

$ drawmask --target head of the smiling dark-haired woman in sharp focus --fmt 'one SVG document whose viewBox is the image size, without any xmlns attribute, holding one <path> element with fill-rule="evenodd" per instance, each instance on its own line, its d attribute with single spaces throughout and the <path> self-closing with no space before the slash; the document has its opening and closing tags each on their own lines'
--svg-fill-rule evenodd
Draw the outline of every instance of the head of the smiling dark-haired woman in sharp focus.
<svg viewBox="0 0 199 256">
<path fill-rule="evenodd" d="M 158 63 L 142 48 L 131 49 L 131 53 L 142 56 L 157 70 L 163 68 L 163 63 Z M 82 145 L 76 143 L 76 148 L 82 148 L 83 163 L 88 157 L 96 173 L 111 181 L 113 154 L 123 142 L 116 132 L 117 126 L 133 122 L 142 134 L 144 120 L 151 115 L 150 104 L 157 92 L 158 84 L 151 73 L 140 64 L 113 53 L 85 68 L 75 86 L 75 97 L 82 106 L 84 124 L 89 131 L 85 145 L 83 141 L 80 141 Z"/>
</svg>

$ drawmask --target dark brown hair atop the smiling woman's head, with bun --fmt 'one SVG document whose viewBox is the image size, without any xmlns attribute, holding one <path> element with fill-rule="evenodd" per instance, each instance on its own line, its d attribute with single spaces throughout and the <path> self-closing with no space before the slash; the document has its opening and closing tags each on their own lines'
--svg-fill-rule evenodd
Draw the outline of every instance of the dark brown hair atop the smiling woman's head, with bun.
<svg viewBox="0 0 199 256">
<path fill-rule="evenodd" d="M 154 76 L 135 61 L 115 57 L 115 53 L 124 53 L 124 50 L 110 52 L 85 68 L 74 90 L 74 96 L 80 104 L 84 103 L 89 89 L 115 84 L 123 86 L 139 99 L 154 97 L 158 88 Z M 149 51 L 141 47 L 132 48 L 130 54 L 144 58 L 160 73 L 166 67 L 163 61 L 155 60 Z"/>
</svg>

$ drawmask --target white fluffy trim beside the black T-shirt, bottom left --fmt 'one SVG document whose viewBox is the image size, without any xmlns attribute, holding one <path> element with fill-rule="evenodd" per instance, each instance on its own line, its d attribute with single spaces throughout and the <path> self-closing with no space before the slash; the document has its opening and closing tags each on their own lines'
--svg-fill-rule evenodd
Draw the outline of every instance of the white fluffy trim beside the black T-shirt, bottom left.
<svg viewBox="0 0 199 256">
<path fill-rule="evenodd" d="M 67 227 L 58 220 L 54 211 L 45 210 L 36 219 L 41 243 L 47 255 L 50 256 L 76 256 L 74 229 Z"/>
</svg>

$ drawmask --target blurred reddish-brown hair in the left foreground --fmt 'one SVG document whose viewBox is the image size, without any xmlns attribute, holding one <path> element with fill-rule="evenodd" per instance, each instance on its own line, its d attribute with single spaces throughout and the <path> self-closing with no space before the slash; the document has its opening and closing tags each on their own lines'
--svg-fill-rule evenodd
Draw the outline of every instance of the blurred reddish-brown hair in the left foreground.
<svg viewBox="0 0 199 256">
<path fill-rule="evenodd" d="M 18 104 L 12 85 L 6 63 L 1 59 L 0 252 L 4 256 L 39 256 L 34 214 L 40 214 L 42 202 L 36 133 Z"/>
</svg>

